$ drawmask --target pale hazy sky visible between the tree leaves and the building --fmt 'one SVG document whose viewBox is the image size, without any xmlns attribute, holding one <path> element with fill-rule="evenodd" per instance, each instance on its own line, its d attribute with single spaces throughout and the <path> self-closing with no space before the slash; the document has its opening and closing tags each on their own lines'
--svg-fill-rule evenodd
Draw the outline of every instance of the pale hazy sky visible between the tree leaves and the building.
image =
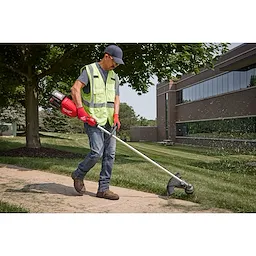
<svg viewBox="0 0 256 256">
<path fill-rule="evenodd" d="M 232 43 L 229 49 L 233 49 L 241 43 Z M 118 70 L 117 70 L 118 73 Z M 120 101 L 127 103 L 135 111 L 136 115 L 145 117 L 146 119 L 156 119 L 156 84 L 157 78 L 152 80 L 154 86 L 149 88 L 145 94 L 138 95 L 135 90 L 127 84 L 120 86 Z"/>
</svg>

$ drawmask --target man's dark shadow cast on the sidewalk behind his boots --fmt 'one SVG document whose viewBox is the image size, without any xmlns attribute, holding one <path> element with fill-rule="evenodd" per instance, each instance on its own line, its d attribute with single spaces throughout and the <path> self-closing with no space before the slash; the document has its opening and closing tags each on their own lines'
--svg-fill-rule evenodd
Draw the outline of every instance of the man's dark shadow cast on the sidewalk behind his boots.
<svg viewBox="0 0 256 256">
<path fill-rule="evenodd" d="M 36 183 L 25 185 L 21 189 L 6 189 L 6 192 L 19 192 L 19 193 L 49 193 L 49 194 L 59 194 L 65 196 L 81 196 L 79 195 L 73 187 L 65 186 L 57 183 Z M 84 195 L 89 195 L 96 197 L 95 193 L 86 191 Z"/>
</svg>

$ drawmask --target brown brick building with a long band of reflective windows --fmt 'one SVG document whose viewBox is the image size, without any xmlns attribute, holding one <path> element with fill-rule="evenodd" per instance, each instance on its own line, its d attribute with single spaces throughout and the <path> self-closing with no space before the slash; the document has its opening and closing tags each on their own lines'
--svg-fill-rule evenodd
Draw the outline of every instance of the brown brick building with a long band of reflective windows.
<svg viewBox="0 0 256 256">
<path fill-rule="evenodd" d="M 214 69 L 157 85 L 157 141 L 256 148 L 256 44 L 223 54 Z"/>
</svg>

